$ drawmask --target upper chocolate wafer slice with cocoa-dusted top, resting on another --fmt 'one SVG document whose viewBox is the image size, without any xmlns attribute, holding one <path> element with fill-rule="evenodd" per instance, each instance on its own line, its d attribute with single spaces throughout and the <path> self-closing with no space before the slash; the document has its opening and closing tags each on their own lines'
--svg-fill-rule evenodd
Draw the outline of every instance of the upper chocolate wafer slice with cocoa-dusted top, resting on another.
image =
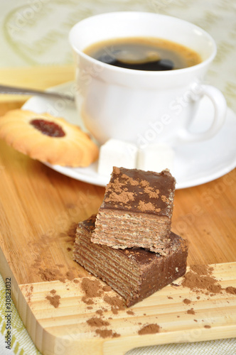
<svg viewBox="0 0 236 355">
<path fill-rule="evenodd" d="M 138 246 L 165 255 L 175 185 L 168 170 L 154 173 L 114 167 L 92 242 L 115 249 Z"/>
</svg>

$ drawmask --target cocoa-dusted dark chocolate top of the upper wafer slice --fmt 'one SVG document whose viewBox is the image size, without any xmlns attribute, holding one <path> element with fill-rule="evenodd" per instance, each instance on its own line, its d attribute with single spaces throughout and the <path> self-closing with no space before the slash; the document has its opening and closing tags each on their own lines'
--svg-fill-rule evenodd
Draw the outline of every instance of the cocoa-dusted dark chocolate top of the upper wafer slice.
<svg viewBox="0 0 236 355">
<path fill-rule="evenodd" d="M 168 216 L 175 185 L 168 170 L 155 173 L 114 167 L 100 208 Z"/>
</svg>

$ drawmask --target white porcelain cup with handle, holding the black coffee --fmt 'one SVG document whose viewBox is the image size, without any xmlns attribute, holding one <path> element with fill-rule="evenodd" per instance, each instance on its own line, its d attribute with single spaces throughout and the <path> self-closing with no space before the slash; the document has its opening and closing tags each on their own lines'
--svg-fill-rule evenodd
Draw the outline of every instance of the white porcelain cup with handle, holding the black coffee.
<svg viewBox="0 0 236 355">
<path fill-rule="evenodd" d="M 100 62 L 83 53 L 103 40 L 164 38 L 195 50 L 202 62 L 178 70 L 132 70 Z M 217 133 L 227 105 L 222 93 L 203 84 L 216 45 L 198 26 L 171 16 L 145 12 L 103 13 L 77 23 L 70 31 L 76 60 L 76 102 L 87 129 L 99 143 L 109 138 L 136 143 L 202 141 Z M 210 128 L 191 133 L 189 126 L 203 95 L 215 112 Z"/>
</svg>

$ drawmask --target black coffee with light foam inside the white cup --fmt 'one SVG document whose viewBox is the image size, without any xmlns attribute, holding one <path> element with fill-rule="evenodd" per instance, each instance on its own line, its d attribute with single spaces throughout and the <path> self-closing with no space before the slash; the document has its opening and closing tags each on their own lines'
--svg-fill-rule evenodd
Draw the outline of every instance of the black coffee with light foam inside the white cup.
<svg viewBox="0 0 236 355">
<path fill-rule="evenodd" d="M 201 62 L 194 50 L 160 38 L 117 38 L 90 45 L 90 57 L 116 67 L 135 70 L 176 70 Z"/>
</svg>

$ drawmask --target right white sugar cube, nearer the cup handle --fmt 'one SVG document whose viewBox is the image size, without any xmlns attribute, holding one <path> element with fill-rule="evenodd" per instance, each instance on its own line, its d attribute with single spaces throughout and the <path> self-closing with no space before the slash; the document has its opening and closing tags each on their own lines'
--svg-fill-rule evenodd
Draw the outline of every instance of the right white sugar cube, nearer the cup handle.
<svg viewBox="0 0 236 355">
<path fill-rule="evenodd" d="M 139 149 L 137 168 L 156 171 L 157 173 L 168 169 L 173 173 L 174 158 L 175 153 L 167 144 L 149 144 L 146 148 Z"/>
</svg>

